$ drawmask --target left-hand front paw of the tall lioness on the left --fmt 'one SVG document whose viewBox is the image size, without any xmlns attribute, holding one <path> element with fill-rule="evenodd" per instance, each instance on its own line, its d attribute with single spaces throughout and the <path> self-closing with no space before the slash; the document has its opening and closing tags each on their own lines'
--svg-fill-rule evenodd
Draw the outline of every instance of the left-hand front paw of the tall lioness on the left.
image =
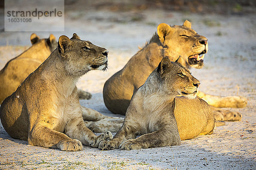
<svg viewBox="0 0 256 170">
<path fill-rule="evenodd" d="M 61 141 L 57 144 L 57 146 L 60 150 L 64 150 L 64 151 L 78 151 L 78 150 L 82 150 L 83 148 L 82 143 L 77 139 Z"/>
</svg>

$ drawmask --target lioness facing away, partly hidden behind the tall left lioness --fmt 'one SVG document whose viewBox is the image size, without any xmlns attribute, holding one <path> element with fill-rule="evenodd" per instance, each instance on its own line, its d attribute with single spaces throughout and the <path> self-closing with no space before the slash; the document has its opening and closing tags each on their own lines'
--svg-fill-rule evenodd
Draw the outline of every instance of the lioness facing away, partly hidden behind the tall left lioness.
<svg viewBox="0 0 256 170">
<path fill-rule="evenodd" d="M 30 36 L 30 42 L 32 46 L 29 49 L 7 62 L 0 71 L 0 104 L 15 92 L 24 79 L 35 71 L 57 47 L 52 34 L 47 39 L 40 39 L 33 33 Z M 90 93 L 79 90 L 79 98 L 90 99 L 90 97 Z"/>
</svg>

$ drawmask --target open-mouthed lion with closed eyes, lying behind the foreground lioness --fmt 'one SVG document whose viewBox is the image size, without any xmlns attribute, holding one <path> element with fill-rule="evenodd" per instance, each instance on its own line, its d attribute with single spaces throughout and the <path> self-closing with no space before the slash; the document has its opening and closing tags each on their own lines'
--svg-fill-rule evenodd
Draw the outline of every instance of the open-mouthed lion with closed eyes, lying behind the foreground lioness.
<svg viewBox="0 0 256 170">
<path fill-rule="evenodd" d="M 125 114 L 132 94 L 143 85 L 164 56 L 175 61 L 181 55 L 180 63 L 186 68 L 202 68 L 204 54 L 207 51 L 207 38 L 191 29 L 189 21 L 186 20 L 183 26 L 169 26 L 161 23 L 157 26 L 157 34 L 153 35 L 148 44 L 131 57 L 122 70 L 105 82 L 103 98 L 106 107 L 113 113 Z M 244 98 L 238 96 L 210 97 L 201 92 L 200 97 L 206 99 L 209 105 L 216 107 L 244 107 L 247 104 Z M 232 115 L 232 120 L 241 119 L 239 113 L 232 113 Z"/>
</svg>

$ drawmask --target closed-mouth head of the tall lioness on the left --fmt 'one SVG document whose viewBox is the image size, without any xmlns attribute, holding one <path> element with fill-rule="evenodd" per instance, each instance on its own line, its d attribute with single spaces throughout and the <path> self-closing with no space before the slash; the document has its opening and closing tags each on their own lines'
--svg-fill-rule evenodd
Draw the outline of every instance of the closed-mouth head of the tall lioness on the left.
<svg viewBox="0 0 256 170">
<path fill-rule="evenodd" d="M 58 52 L 66 60 L 66 70 L 74 76 L 108 68 L 108 51 L 90 41 L 80 40 L 75 33 L 71 39 L 65 35 L 59 37 Z"/>
</svg>

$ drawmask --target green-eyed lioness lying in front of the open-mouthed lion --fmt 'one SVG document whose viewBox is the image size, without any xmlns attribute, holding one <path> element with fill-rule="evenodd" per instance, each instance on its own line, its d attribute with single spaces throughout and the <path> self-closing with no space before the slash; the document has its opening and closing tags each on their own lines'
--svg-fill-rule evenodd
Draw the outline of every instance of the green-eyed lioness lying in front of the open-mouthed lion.
<svg viewBox="0 0 256 170">
<path fill-rule="evenodd" d="M 199 85 L 189 70 L 177 61 L 163 58 L 145 84 L 134 92 L 120 130 L 111 141 L 100 142 L 99 148 L 163 147 L 180 144 L 180 139 L 211 134 L 214 128 L 212 111 L 206 102 L 195 98 Z M 177 95 L 191 100 L 179 98 L 183 103 L 180 105 L 175 98 Z M 183 111 L 175 114 L 175 107 Z M 137 135 L 141 136 L 136 138 Z"/>
</svg>

